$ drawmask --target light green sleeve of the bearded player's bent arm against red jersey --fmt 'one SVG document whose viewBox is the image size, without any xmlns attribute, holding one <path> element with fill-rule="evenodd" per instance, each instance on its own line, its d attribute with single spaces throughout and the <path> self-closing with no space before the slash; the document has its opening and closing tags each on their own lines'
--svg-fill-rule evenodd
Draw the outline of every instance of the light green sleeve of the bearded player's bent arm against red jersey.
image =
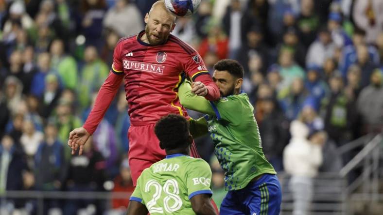
<svg viewBox="0 0 383 215">
<path fill-rule="evenodd" d="M 191 110 L 195 110 L 201 113 L 206 113 L 209 115 L 214 115 L 214 110 L 210 106 L 208 100 L 202 96 L 195 95 L 191 92 L 191 83 L 189 80 L 186 80 L 178 88 L 179 102 L 183 107 L 186 107 Z"/>
</svg>

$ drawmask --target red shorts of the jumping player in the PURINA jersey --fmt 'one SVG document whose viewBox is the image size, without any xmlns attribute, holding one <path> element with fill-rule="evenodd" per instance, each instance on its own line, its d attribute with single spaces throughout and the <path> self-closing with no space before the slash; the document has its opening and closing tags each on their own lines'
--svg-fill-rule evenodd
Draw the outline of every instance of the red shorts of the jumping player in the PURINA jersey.
<svg viewBox="0 0 383 215">
<path fill-rule="evenodd" d="M 156 124 L 129 127 L 129 166 L 132 174 L 133 185 L 136 186 L 141 172 L 165 158 L 165 150 L 159 148 L 159 140 L 154 133 Z M 200 157 L 194 142 L 190 147 L 192 157 Z"/>
</svg>

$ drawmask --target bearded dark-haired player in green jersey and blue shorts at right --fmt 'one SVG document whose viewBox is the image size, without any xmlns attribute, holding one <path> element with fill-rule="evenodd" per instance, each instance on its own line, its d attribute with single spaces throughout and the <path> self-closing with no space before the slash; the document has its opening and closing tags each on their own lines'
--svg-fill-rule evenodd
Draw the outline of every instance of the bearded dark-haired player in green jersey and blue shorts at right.
<svg viewBox="0 0 383 215">
<path fill-rule="evenodd" d="M 209 102 L 195 95 L 188 81 L 180 86 L 179 99 L 184 107 L 208 114 L 207 128 L 214 153 L 225 170 L 228 190 L 220 214 L 279 215 L 280 184 L 263 154 L 254 107 L 241 91 L 243 76 L 244 69 L 238 61 L 218 61 L 213 81 L 221 92 L 220 100 Z M 194 82 L 193 87 L 201 84 Z"/>
</svg>

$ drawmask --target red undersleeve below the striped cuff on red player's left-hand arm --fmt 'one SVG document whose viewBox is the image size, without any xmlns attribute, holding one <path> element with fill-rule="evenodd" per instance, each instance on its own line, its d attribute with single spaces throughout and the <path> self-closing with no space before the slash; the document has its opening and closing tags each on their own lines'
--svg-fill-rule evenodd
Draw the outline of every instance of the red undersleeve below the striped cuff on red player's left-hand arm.
<svg viewBox="0 0 383 215">
<path fill-rule="evenodd" d="M 123 77 L 122 75 L 116 75 L 114 71 L 111 70 L 109 76 L 101 86 L 96 97 L 96 102 L 84 124 L 85 130 L 87 130 L 89 134 L 93 134 L 98 124 L 104 118 L 105 112 L 116 95 Z"/>
</svg>

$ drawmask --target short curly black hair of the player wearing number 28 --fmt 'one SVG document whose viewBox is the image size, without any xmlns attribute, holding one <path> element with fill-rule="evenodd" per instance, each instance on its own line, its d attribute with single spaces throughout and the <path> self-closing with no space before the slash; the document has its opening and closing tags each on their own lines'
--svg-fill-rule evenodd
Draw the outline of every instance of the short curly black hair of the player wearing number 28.
<svg viewBox="0 0 383 215">
<path fill-rule="evenodd" d="M 182 116 L 169 114 L 156 123 L 154 132 L 161 149 L 172 150 L 188 146 L 189 122 Z"/>
</svg>

